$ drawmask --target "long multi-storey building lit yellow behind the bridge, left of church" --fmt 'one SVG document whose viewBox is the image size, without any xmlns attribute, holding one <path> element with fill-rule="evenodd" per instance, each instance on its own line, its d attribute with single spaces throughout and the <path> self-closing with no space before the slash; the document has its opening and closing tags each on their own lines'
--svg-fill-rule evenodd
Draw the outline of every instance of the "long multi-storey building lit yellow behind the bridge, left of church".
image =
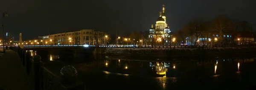
<svg viewBox="0 0 256 90">
<path fill-rule="evenodd" d="M 38 36 L 38 39 L 26 44 L 41 44 L 41 45 L 103 45 L 106 33 L 95 31 L 93 29 L 81 29 L 79 31 L 63 32 Z M 26 42 L 26 41 L 25 41 Z"/>
</svg>

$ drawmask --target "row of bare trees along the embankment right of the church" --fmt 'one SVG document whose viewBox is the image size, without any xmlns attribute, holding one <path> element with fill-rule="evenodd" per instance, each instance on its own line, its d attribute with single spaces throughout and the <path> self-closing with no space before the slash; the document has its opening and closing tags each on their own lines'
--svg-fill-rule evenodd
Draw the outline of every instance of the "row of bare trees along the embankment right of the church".
<svg viewBox="0 0 256 90">
<path fill-rule="evenodd" d="M 231 43 L 227 38 L 224 38 L 224 35 L 234 34 L 238 31 L 244 32 L 253 32 L 252 23 L 247 21 L 239 21 L 233 20 L 227 15 L 218 15 L 211 21 L 206 21 L 202 19 L 194 19 L 186 23 L 182 29 L 173 33 L 175 37 L 177 37 L 178 41 L 183 44 L 186 43 L 187 38 L 189 38 L 190 45 L 197 46 L 199 45 L 199 38 L 212 38 L 212 35 L 218 35 L 218 41 L 216 44 L 224 45 L 224 44 L 235 44 L 234 37 L 231 39 Z M 209 40 L 211 41 L 211 40 Z M 209 42 L 208 40 L 201 41 L 203 45 Z M 214 41 L 214 40 L 212 40 Z M 223 43 L 224 41 L 224 43 Z"/>
</svg>

